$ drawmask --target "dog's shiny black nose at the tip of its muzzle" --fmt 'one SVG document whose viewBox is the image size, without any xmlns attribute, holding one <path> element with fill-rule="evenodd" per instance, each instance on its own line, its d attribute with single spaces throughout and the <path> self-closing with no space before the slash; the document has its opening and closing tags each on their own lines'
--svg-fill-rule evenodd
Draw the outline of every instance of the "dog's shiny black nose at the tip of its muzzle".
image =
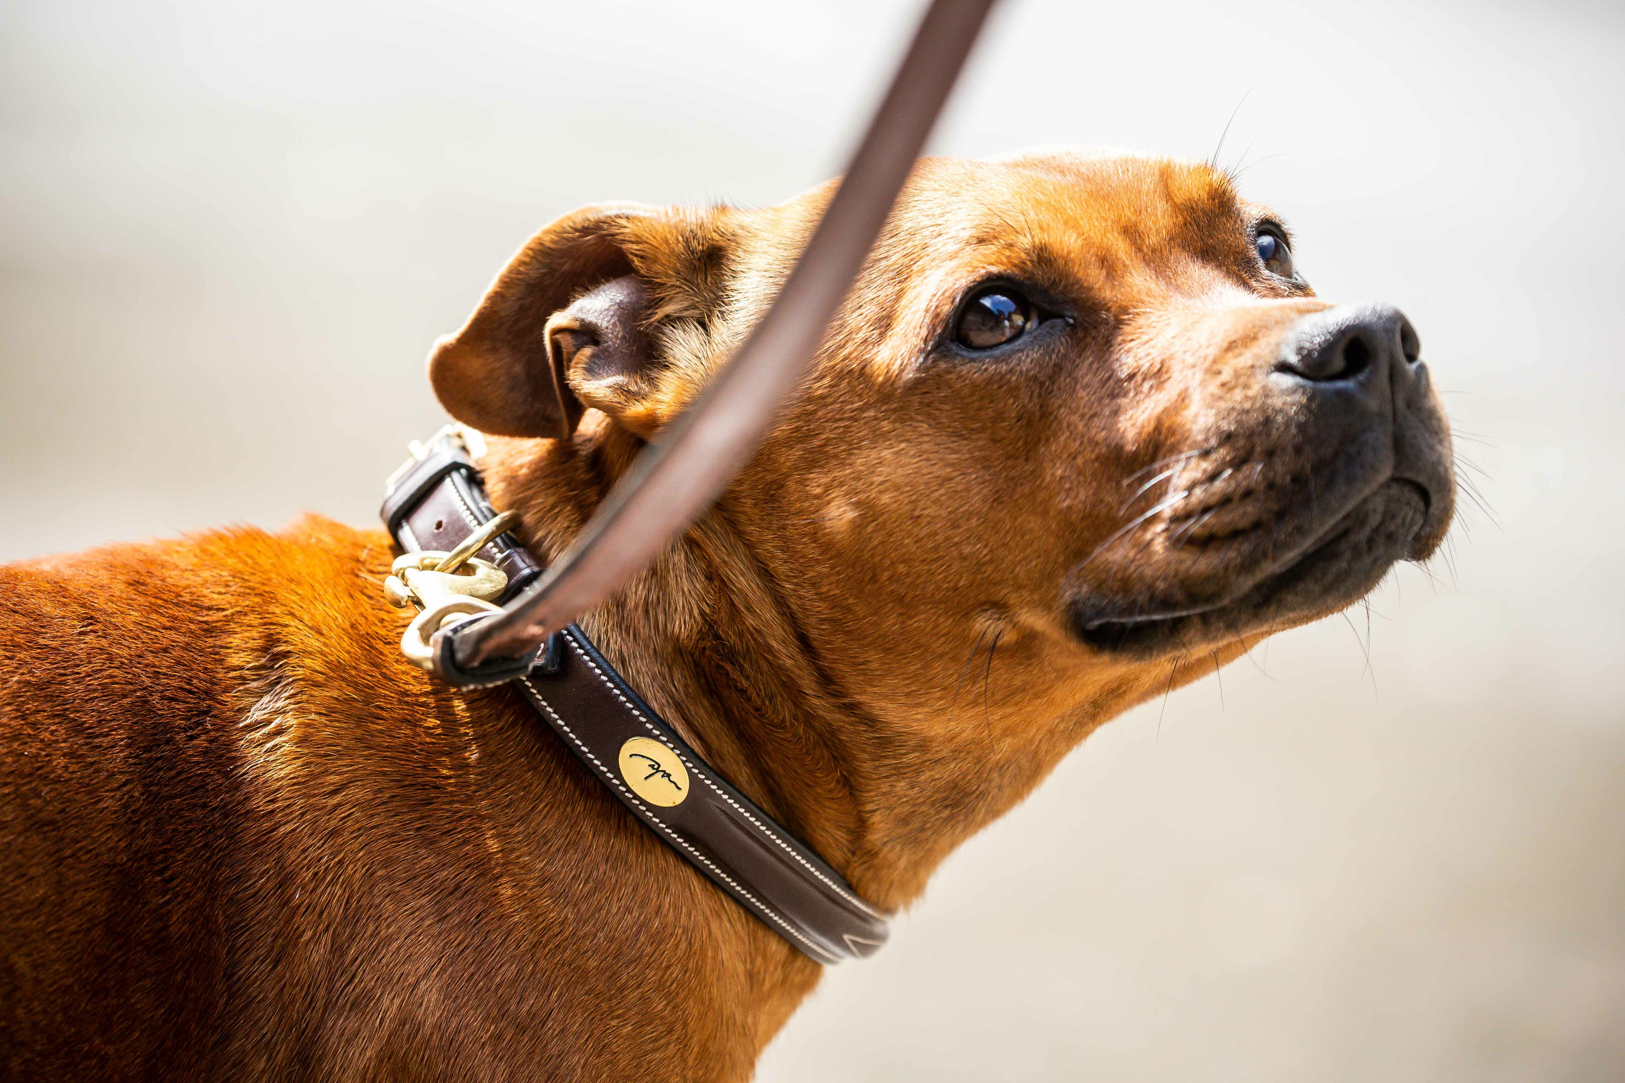
<svg viewBox="0 0 1625 1083">
<path fill-rule="evenodd" d="M 1298 320 L 1280 347 L 1276 372 L 1311 383 L 1409 375 L 1422 343 L 1393 305 L 1344 305 Z"/>
</svg>

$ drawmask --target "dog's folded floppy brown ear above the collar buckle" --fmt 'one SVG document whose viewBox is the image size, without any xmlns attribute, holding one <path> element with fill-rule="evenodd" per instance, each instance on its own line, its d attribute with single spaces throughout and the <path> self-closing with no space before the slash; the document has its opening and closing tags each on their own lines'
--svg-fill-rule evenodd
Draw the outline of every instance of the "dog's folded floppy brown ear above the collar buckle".
<svg viewBox="0 0 1625 1083">
<path fill-rule="evenodd" d="M 588 406 L 621 401 L 648 349 L 622 235 L 653 213 L 637 203 L 587 206 L 531 237 L 468 323 L 429 354 L 429 383 L 445 411 L 479 432 L 564 438 L 583 409 L 572 383 Z"/>
</svg>

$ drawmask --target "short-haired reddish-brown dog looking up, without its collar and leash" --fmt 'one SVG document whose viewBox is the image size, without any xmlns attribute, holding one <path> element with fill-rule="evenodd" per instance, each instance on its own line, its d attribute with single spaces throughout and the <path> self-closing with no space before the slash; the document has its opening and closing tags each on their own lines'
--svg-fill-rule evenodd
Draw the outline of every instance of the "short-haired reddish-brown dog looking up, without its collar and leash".
<svg viewBox="0 0 1625 1083">
<path fill-rule="evenodd" d="M 578 211 L 439 346 L 538 554 L 829 195 Z M 1318 300 L 1204 164 L 925 161 L 749 468 L 583 625 L 902 908 L 1095 726 L 1433 552 L 1453 469 L 1417 351 L 1398 310 Z M 11 1078 L 751 1075 L 819 968 L 509 688 L 408 667 L 390 559 L 304 520 L 3 572 Z"/>
</svg>

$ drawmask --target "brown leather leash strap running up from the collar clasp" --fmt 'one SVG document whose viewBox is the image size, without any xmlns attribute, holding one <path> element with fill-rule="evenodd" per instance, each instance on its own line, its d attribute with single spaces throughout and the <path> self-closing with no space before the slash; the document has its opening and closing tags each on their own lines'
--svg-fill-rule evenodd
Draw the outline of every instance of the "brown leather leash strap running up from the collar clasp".
<svg viewBox="0 0 1625 1083">
<path fill-rule="evenodd" d="M 739 472 L 795 390 L 970 54 L 993 0 L 933 0 L 835 198 L 774 305 L 700 398 L 637 458 L 580 536 L 502 612 L 434 633 L 455 685 L 514 680 L 549 633 L 642 572 Z"/>
</svg>

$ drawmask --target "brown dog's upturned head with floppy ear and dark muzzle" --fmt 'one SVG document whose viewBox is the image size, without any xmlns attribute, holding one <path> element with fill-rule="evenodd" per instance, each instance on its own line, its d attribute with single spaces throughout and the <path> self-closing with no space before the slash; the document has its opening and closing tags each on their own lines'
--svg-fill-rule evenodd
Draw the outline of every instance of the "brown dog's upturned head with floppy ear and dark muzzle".
<svg viewBox="0 0 1625 1083">
<path fill-rule="evenodd" d="M 440 401 L 489 434 L 647 440 L 830 192 L 561 219 L 437 346 Z M 1230 656 L 1425 559 L 1453 497 L 1399 310 L 1315 297 L 1284 224 L 1206 164 L 1055 153 L 920 162 L 723 515 L 884 713 L 941 706 L 970 645 L 1029 687 Z"/>
</svg>

